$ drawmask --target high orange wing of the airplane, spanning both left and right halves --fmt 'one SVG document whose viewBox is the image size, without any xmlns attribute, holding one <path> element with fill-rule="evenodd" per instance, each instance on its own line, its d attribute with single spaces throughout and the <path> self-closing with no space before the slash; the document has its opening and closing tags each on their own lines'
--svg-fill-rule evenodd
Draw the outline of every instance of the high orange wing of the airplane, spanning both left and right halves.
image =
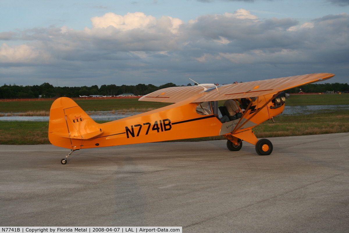
<svg viewBox="0 0 349 233">
<path fill-rule="evenodd" d="M 330 73 L 305 74 L 278 79 L 220 85 L 217 86 L 217 88 L 215 86 L 206 86 L 206 88 L 208 88 L 207 90 L 204 90 L 201 86 L 169 87 L 145 95 L 139 100 L 177 103 L 193 95 L 198 95 L 198 98 L 192 101 L 194 103 L 255 97 L 281 92 L 283 90 L 303 86 L 313 82 L 324 81 L 333 76 L 334 74 Z"/>
</svg>

